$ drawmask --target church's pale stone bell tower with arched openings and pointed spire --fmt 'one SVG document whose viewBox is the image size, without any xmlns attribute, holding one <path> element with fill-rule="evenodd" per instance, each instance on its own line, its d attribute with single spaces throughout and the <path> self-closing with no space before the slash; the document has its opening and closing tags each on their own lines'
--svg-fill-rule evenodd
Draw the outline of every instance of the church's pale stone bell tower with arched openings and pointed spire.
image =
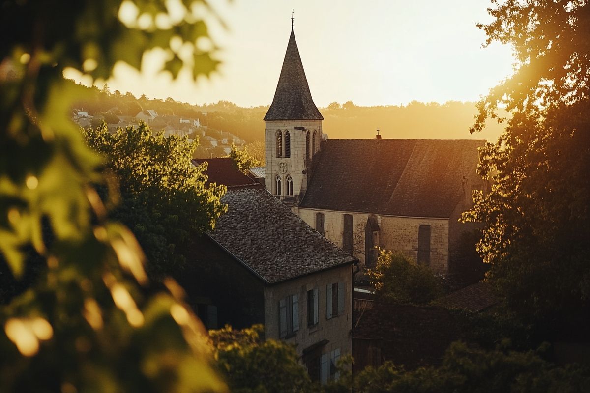
<svg viewBox="0 0 590 393">
<path fill-rule="evenodd" d="M 320 150 L 322 120 L 307 85 L 291 18 L 277 90 L 264 116 L 266 187 L 286 203 L 299 203 L 307 189 L 307 172 Z"/>
</svg>

